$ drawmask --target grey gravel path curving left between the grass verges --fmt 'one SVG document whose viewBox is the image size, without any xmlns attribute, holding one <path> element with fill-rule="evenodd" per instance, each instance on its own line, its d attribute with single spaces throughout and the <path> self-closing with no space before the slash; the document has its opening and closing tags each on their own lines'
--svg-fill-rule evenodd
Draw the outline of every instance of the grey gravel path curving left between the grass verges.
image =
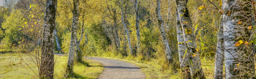
<svg viewBox="0 0 256 79">
<path fill-rule="evenodd" d="M 146 75 L 134 64 L 99 57 L 88 57 L 88 59 L 103 64 L 104 71 L 98 79 L 146 79 Z"/>
</svg>

